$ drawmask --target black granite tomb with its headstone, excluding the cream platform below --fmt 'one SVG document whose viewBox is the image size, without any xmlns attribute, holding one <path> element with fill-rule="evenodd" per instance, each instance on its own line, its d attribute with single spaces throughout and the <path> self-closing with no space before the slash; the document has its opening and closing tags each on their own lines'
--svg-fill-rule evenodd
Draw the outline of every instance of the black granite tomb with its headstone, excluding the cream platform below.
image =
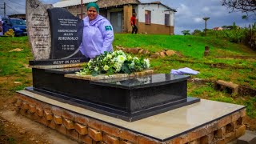
<svg viewBox="0 0 256 144">
<path fill-rule="evenodd" d="M 70 64 L 86 61 L 78 49 L 82 20 L 37 0 L 27 0 L 26 6 L 34 55 L 30 61 L 33 86 L 26 90 L 128 122 L 200 101 L 187 97 L 190 76 L 153 74 L 152 70 L 134 76 L 114 74 L 110 79 L 77 76 L 74 72 L 82 67 Z"/>
</svg>

